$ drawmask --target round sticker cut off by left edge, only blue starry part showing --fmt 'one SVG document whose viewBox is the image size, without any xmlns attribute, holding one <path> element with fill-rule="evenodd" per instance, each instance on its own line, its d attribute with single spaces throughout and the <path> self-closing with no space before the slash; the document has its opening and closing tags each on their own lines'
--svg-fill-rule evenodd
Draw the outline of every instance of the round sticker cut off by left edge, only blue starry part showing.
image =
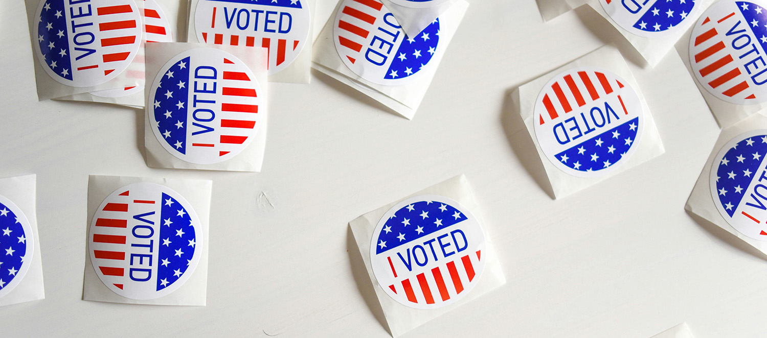
<svg viewBox="0 0 767 338">
<path fill-rule="evenodd" d="M 35 236 L 27 217 L 0 195 L 0 297 L 16 287 L 29 270 Z"/>
</svg>

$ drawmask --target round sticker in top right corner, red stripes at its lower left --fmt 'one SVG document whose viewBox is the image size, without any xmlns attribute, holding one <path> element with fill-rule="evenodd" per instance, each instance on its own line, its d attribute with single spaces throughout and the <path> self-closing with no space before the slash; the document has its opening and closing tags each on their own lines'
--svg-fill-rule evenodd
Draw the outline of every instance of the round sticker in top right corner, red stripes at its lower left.
<svg viewBox="0 0 767 338">
<path fill-rule="evenodd" d="M 765 36 L 765 2 L 723 0 L 711 5 L 690 36 L 690 65 L 698 83 L 729 103 L 767 101 Z"/>
</svg>

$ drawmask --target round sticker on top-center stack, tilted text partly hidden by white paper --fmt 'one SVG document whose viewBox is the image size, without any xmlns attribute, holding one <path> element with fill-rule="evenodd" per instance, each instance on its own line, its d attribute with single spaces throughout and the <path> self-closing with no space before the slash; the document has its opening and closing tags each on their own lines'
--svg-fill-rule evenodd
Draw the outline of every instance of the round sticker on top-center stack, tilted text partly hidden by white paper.
<svg viewBox="0 0 767 338">
<path fill-rule="evenodd" d="M 439 19 L 408 37 L 377 0 L 344 0 L 333 27 L 336 51 L 354 74 L 374 84 L 410 84 L 439 50 Z"/>
</svg>

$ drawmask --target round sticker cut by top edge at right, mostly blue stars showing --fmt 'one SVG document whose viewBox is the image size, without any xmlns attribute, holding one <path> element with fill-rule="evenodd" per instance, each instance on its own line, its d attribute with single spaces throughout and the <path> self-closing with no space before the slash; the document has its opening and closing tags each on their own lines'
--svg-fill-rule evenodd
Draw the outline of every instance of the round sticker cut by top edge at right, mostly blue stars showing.
<svg viewBox="0 0 767 338">
<path fill-rule="evenodd" d="M 695 0 L 599 0 L 607 15 L 627 31 L 660 38 L 683 29 L 700 5 Z"/>
</svg>

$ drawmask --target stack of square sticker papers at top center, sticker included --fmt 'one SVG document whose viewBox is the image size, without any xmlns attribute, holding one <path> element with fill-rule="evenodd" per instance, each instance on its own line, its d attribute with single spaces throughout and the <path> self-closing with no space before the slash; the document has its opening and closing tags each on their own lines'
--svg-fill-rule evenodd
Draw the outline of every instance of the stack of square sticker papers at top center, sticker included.
<svg viewBox="0 0 767 338">
<path fill-rule="evenodd" d="M 393 2 L 397 8 L 416 3 L 438 8 L 398 17 L 389 8 L 392 2 L 342 0 L 318 36 L 312 67 L 411 119 L 469 4 Z M 410 31 L 400 20 L 410 23 Z"/>
</svg>

